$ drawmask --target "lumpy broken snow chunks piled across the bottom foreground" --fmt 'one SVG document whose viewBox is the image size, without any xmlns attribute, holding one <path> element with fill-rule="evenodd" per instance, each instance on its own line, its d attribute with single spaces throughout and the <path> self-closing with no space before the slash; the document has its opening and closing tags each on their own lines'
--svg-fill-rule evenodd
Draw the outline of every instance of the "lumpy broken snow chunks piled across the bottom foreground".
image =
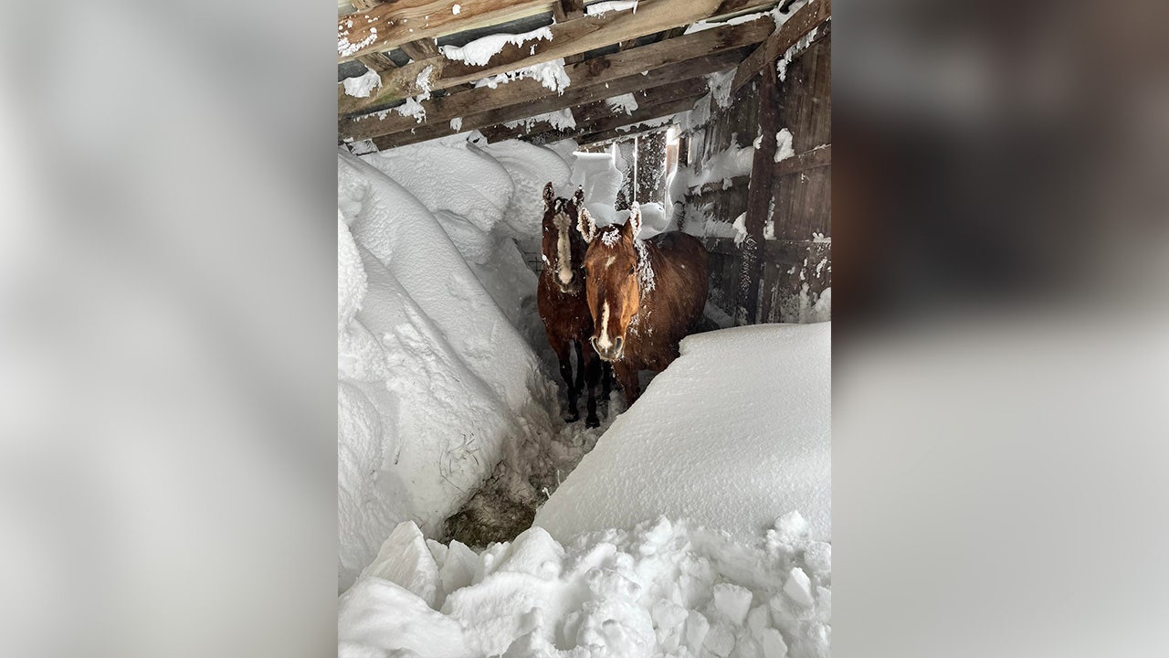
<svg viewBox="0 0 1169 658">
<path fill-rule="evenodd" d="M 394 535 L 340 599 L 339 656 L 828 656 L 831 546 L 798 514 L 738 541 L 666 519 L 532 528 L 480 555 Z"/>
</svg>

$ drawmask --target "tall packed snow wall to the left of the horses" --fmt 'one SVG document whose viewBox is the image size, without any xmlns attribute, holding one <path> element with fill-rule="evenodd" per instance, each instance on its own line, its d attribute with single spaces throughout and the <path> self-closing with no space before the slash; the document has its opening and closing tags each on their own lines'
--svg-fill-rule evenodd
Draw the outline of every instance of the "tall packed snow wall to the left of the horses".
<svg viewBox="0 0 1169 658">
<path fill-rule="evenodd" d="M 540 189 L 569 186 L 523 143 L 338 157 L 338 516 L 345 589 L 401 521 L 428 535 L 503 461 L 553 434 L 535 275 Z"/>
</svg>

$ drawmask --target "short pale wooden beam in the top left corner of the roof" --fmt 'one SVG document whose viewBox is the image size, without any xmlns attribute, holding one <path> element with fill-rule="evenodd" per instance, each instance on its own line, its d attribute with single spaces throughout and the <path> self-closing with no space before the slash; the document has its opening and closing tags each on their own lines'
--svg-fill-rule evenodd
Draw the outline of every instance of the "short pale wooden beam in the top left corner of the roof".
<svg viewBox="0 0 1169 658">
<path fill-rule="evenodd" d="M 393 50 L 408 41 L 437 39 L 542 14 L 555 0 L 393 0 L 337 20 L 338 62 Z M 455 5 L 459 6 L 455 13 Z"/>
</svg>

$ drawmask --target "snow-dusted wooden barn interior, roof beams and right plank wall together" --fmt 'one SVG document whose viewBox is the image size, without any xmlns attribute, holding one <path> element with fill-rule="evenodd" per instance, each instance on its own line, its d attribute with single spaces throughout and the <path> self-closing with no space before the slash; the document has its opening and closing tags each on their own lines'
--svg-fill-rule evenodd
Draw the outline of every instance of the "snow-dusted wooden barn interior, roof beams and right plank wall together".
<svg viewBox="0 0 1169 658">
<path fill-rule="evenodd" d="M 703 239 L 720 323 L 829 318 L 829 0 L 338 8 L 339 140 L 354 155 L 469 131 L 614 152 L 616 210 L 669 204 L 671 226 Z M 549 62 L 558 84 L 521 75 Z"/>
</svg>

